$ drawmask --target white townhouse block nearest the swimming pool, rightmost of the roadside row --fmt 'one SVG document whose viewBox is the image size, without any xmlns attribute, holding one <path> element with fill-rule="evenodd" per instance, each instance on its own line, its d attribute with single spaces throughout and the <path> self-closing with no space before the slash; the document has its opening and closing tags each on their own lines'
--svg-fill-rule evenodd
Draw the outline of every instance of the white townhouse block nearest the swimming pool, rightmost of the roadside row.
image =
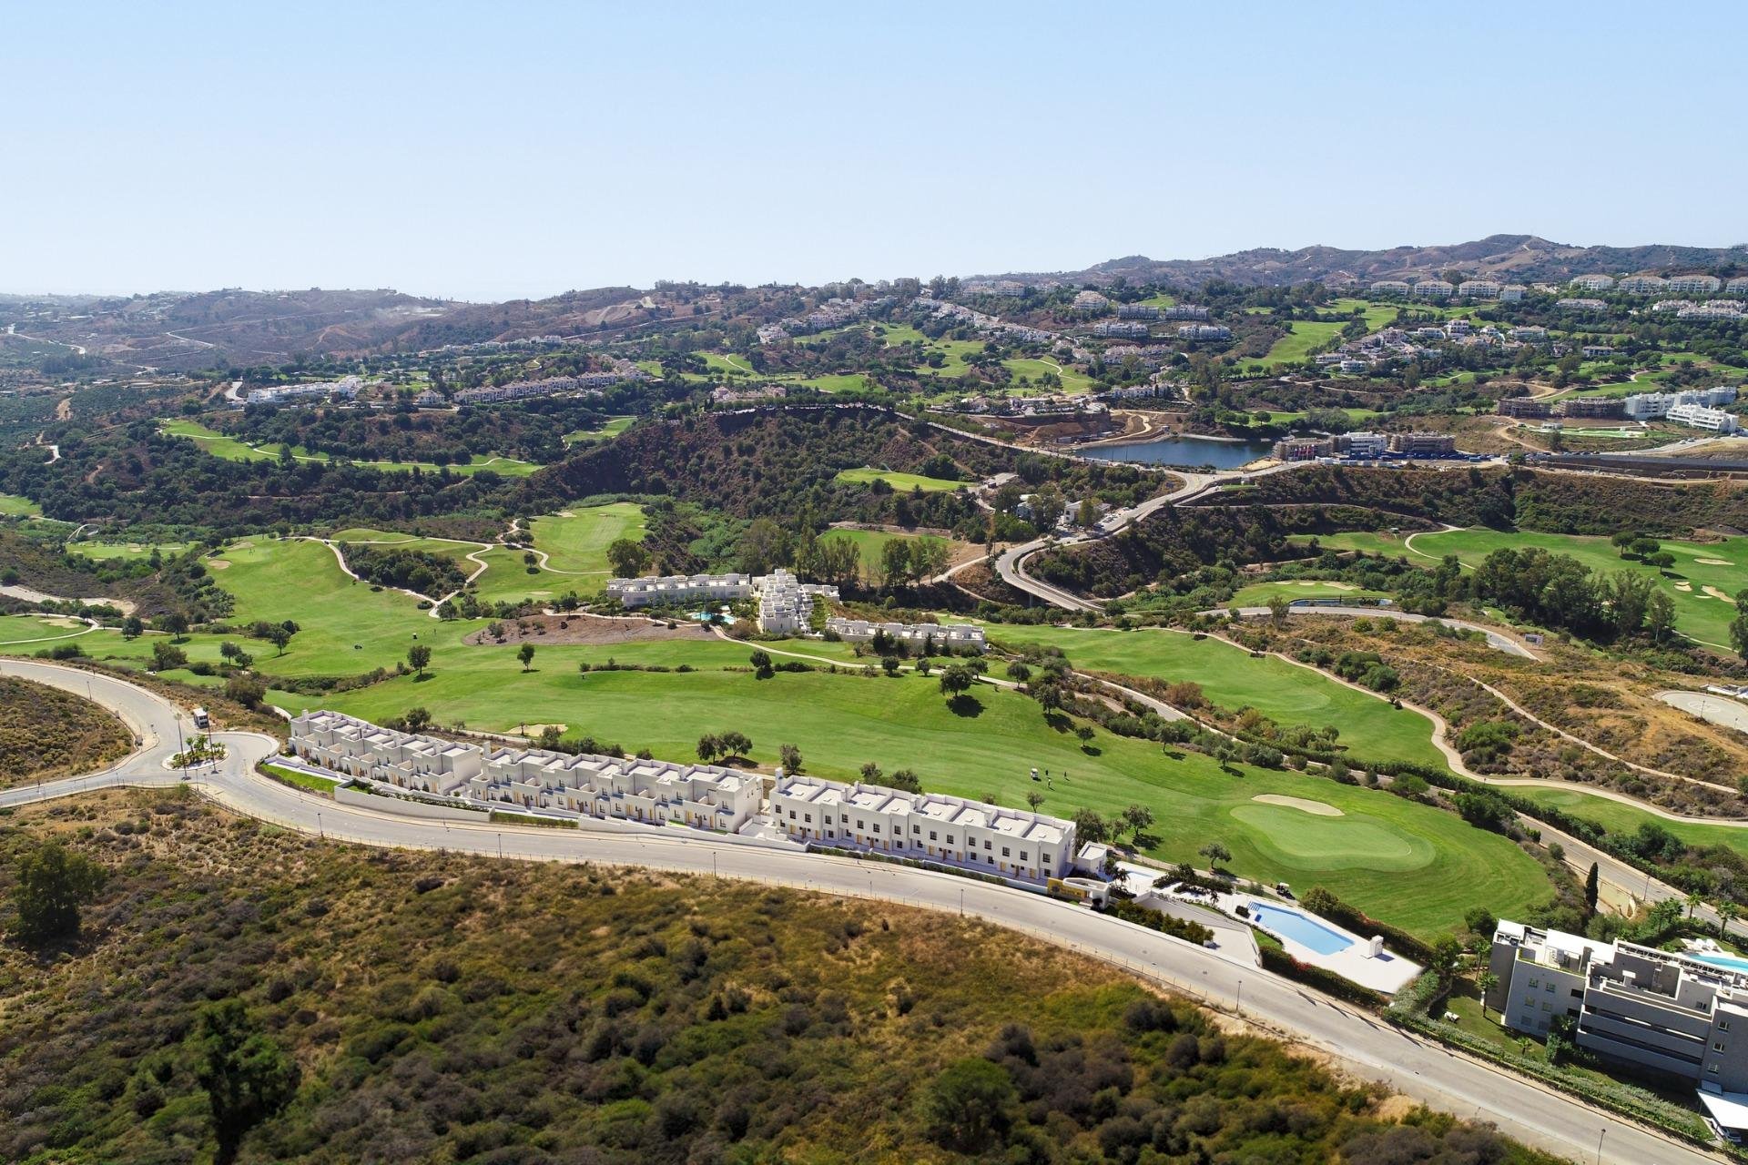
<svg viewBox="0 0 1748 1165">
<path fill-rule="evenodd" d="M 781 776 L 771 817 L 797 842 L 933 858 L 1035 882 L 1066 877 L 1075 861 L 1073 821 L 860 781 Z"/>
</svg>

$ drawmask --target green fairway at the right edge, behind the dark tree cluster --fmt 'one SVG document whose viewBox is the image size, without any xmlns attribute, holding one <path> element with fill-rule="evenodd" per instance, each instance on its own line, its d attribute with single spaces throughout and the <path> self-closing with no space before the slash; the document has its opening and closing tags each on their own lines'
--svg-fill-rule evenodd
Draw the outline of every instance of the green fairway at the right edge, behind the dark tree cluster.
<svg viewBox="0 0 1748 1165">
<path fill-rule="evenodd" d="M 1643 562 L 1622 559 L 1606 538 L 1493 529 L 1414 534 L 1416 552 L 1432 559 L 1454 554 L 1467 566 L 1479 566 L 1493 550 L 1540 547 L 1568 554 L 1598 573 L 1627 569 L 1647 575 L 1675 599 L 1675 625 L 1682 634 L 1729 650 L 1729 624 L 1736 615 L 1734 596 L 1748 587 L 1748 538 L 1725 538 L 1710 543 L 1662 541 L 1661 545 L 1675 555 L 1675 566 L 1669 568 L 1668 575 Z M 1706 587 L 1711 587 L 1715 594 L 1708 592 Z"/>
</svg>

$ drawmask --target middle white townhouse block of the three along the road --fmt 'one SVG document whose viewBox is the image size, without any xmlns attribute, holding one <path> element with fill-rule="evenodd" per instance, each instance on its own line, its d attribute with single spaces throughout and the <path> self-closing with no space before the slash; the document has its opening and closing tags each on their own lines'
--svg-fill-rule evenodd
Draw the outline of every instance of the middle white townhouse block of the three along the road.
<svg viewBox="0 0 1748 1165">
<path fill-rule="evenodd" d="M 762 784 L 717 765 L 505 748 L 484 756 L 465 791 L 475 802 L 734 833 L 759 812 Z"/>
</svg>

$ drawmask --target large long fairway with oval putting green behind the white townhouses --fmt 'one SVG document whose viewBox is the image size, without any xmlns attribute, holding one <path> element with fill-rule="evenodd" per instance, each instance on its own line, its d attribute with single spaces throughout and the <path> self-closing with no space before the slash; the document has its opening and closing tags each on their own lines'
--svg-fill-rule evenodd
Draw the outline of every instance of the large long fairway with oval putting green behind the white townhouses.
<svg viewBox="0 0 1748 1165">
<path fill-rule="evenodd" d="M 729 645 L 669 650 L 715 646 Z M 746 645 L 732 650 L 745 658 Z M 710 669 L 579 674 L 572 651 L 580 650 L 542 650 L 537 671 L 528 674 L 509 646 L 474 648 L 463 658 L 444 651 L 434 664 L 435 674 L 423 683 L 404 676 L 334 693 L 325 702 L 367 718 L 400 714 L 418 704 L 439 720 L 495 730 L 565 723 L 572 732 L 589 732 L 628 749 L 649 748 L 668 760 L 690 758 L 706 732 L 738 728 L 753 739 L 757 762 L 774 763 L 778 744 L 790 742 L 801 748 L 808 770 L 825 777 L 851 779 L 862 763 L 876 762 L 886 772 L 916 770 L 925 788 L 993 795 L 1007 805 L 1023 805 L 1026 793 L 1037 789 L 1045 796 L 1045 812 L 1091 807 L 1113 814 L 1141 802 L 1159 821 L 1154 831 L 1161 840 L 1152 852 L 1161 859 L 1196 859 L 1201 845 L 1218 838 L 1234 854 L 1232 868 L 1245 877 L 1287 879 L 1301 887 L 1325 884 L 1416 933 L 1454 926 L 1472 905 L 1516 910 L 1545 898 L 1533 861 L 1505 838 L 1474 830 L 1453 814 L 1294 772 L 1222 770 L 1196 753 L 1176 760 L 1155 744 L 1105 734 L 1094 741 L 1096 755 L 1089 755 L 1017 693 L 979 686 L 979 713 L 958 716 L 947 709 L 937 683 L 921 676 L 864 679 L 811 672 L 759 681 L 746 672 Z M 619 648 L 615 655 L 624 660 L 629 651 Z M 280 702 L 285 700 L 309 702 L 292 695 Z M 1033 782 L 1028 776 L 1033 767 L 1049 770 L 1051 781 Z M 1346 816 L 1257 814 L 1262 807 L 1252 798 L 1260 793 L 1320 800 Z"/>
</svg>

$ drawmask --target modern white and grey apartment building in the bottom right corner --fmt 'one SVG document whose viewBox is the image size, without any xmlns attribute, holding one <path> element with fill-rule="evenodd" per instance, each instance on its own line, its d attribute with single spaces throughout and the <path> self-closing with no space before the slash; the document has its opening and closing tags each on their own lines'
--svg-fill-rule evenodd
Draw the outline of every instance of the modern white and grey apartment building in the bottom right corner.
<svg viewBox="0 0 1748 1165">
<path fill-rule="evenodd" d="M 1748 1127 L 1748 975 L 1696 955 L 1521 922 L 1500 922 L 1489 969 L 1495 985 L 1486 1004 L 1498 1008 L 1507 1027 L 1547 1036 L 1556 1017 L 1571 1017 L 1580 1048 L 1697 1085 L 1713 1125 L 1741 1139 Z"/>
</svg>

